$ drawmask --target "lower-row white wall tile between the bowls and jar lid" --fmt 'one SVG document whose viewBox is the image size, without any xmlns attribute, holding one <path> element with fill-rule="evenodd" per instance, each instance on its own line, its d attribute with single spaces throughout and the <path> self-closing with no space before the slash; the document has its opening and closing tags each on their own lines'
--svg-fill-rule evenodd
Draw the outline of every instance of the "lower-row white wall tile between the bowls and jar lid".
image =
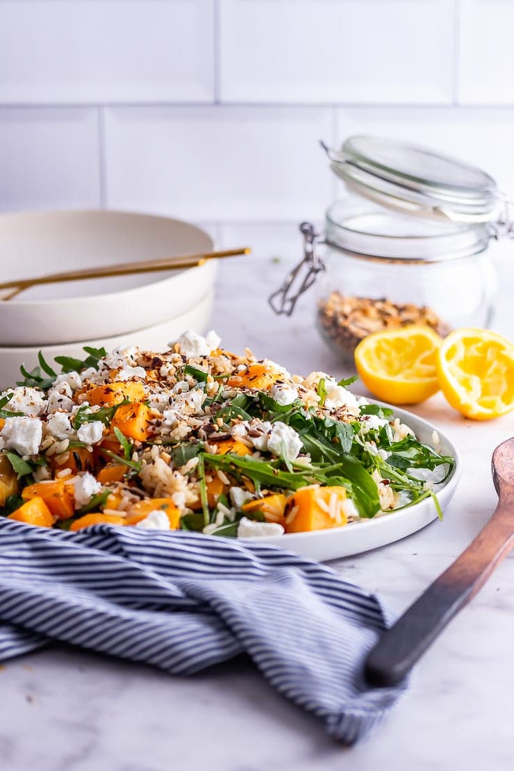
<svg viewBox="0 0 514 771">
<path fill-rule="evenodd" d="M 107 204 L 200 220 L 320 217 L 332 180 L 322 107 L 106 110 Z"/>
</svg>

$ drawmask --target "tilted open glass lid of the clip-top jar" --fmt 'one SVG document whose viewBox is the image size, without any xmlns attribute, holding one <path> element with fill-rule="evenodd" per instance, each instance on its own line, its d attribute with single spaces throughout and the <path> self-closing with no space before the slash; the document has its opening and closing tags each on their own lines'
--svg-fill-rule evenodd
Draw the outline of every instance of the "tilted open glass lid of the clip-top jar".
<svg viewBox="0 0 514 771">
<path fill-rule="evenodd" d="M 497 217 L 495 180 L 455 158 L 377 136 L 350 136 L 341 151 L 325 150 L 348 187 L 383 206 L 463 223 Z"/>
</svg>

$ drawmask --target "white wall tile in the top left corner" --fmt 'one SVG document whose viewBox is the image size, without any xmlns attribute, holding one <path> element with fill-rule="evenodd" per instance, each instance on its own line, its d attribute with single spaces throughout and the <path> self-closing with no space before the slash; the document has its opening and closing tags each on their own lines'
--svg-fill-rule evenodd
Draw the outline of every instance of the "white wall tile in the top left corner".
<svg viewBox="0 0 514 771">
<path fill-rule="evenodd" d="M 0 102 L 210 102 L 214 0 L 2 0 Z"/>
</svg>

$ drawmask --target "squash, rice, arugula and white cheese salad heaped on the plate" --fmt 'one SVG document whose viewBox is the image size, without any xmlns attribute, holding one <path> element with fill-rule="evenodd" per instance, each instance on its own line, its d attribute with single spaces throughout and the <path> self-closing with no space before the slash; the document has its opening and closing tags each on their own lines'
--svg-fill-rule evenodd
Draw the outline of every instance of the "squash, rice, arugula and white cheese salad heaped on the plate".
<svg viewBox="0 0 514 771">
<path fill-rule="evenodd" d="M 42 527 L 97 523 L 277 536 L 354 526 L 432 497 L 454 459 L 418 441 L 353 379 L 291 375 L 220 338 L 164 353 L 86 348 L 22 367 L 0 395 L 0 513 Z"/>
</svg>

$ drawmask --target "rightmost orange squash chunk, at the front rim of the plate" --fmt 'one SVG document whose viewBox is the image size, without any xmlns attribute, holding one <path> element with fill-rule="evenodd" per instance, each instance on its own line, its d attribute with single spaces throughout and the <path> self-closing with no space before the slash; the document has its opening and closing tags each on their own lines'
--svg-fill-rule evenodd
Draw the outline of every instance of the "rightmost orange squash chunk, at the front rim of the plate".
<svg viewBox="0 0 514 771">
<path fill-rule="evenodd" d="M 326 530 L 347 524 L 341 503 L 346 500 L 344 487 L 301 487 L 286 503 L 286 533 L 303 533 L 306 530 Z"/>
</svg>

